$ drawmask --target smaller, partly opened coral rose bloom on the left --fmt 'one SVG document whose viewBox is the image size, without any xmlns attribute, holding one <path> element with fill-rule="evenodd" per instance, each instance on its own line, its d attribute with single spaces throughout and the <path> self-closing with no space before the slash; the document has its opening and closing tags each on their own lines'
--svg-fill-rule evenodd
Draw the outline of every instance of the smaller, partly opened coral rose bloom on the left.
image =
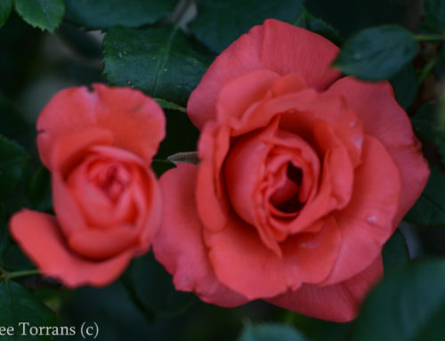
<svg viewBox="0 0 445 341">
<path fill-rule="evenodd" d="M 44 275 L 68 287 L 104 286 L 146 253 L 161 199 L 150 169 L 165 135 L 156 101 L 96 84 L 57 93 L 37 121 L 55 216 L 23 209 L 10 231 Z"/>
</svg>

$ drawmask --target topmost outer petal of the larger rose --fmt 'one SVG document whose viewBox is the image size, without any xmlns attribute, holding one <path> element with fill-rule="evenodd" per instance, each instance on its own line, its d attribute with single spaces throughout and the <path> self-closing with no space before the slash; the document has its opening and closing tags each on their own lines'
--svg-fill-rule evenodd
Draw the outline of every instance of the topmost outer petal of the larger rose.
<svg viewBox="0 0 445 341">
<path fill-rule="evenodd" d="M 257 69 L 297 72 L 310 87 L 324 89 L 340 73 L 330 68 L 338 48 L 327 39 L 279 20 L 265 20 L 221 53 L 191 93 L 187 112 L 199 129 L 215 117 L 223 85 Z"/>
</svg>

